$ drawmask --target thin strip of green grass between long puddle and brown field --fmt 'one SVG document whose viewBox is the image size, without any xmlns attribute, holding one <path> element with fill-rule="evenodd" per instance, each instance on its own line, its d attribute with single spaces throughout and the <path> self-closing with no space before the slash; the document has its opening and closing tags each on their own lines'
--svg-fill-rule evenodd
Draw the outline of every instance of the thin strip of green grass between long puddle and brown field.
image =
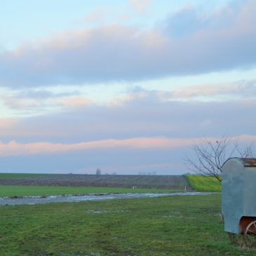
<svg viewBox="0 0 256 256">
<path fill-rule="evenodd" d="M 116 187 L 53 187 L 53 186 L 9 186 L 0 185 L 2 196 L 50 196 L 69 194 L 101 194 L 101 193 L 165 193 L 171 189 L 131 189 Z"/>
</svg>

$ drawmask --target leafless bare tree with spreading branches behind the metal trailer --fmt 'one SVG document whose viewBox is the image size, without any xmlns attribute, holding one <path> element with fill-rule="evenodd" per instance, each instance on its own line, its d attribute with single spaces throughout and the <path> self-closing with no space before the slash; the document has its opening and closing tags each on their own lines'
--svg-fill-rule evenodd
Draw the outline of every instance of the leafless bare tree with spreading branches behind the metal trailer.
<svg viewBox="0 0 256 256">
<path fill-rule="evenodd" d="M 254 157 L 255 152 L 252 144 L 242 147 L 238 140 L 224 135 L 220 140 L 212 141 L 202 139 L 198 144 L 191 146 L 194 158 L 186 156 L 184 162 L 189 170 L 200 175 L 214 176 L 222 181 L 221 167 L 230 157 Z"/>
</svg>

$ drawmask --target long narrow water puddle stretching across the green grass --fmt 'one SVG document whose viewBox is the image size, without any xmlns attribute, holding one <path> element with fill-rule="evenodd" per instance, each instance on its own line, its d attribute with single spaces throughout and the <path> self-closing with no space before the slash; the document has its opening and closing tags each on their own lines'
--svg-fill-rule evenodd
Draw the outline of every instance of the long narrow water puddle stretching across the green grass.
<svg viewBox="0 0 256 256">
<path fill-rule="evenodd" d="M 26 196 L 20 198 L 1 197 L 0 206 L 17 206 L 17 205 L 33 205 L 37 203 L 62 203 L 62 202 L 81 202 L 81 201 L 100 201 L 116 198 L 145 198 L 158 196 L 200 196 L 215 194 L 211 192 L 176 192 L 176 193 L 161 193 L 161 194 L 90 194 L 83 196 Z"/>
</svg>

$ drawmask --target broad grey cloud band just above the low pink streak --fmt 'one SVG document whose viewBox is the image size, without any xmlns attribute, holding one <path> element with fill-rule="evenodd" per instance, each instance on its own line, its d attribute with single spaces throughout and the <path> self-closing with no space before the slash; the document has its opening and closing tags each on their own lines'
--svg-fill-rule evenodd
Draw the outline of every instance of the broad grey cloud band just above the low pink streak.
<svg viewBox="0 0 256 256">
<path fill-rule="evenodd" d="M 179 102 L 137 98 L 117 107 L 90 106 L 30 117 L 0 130 L 11 140 L 81 142 L 130 137 L 207 137 L 254 134 L 255 100 Z M 155 95 L 155 97 L 157 97 Z M 239 120 L 237 119 L 239 116 Z"/>
</svg>

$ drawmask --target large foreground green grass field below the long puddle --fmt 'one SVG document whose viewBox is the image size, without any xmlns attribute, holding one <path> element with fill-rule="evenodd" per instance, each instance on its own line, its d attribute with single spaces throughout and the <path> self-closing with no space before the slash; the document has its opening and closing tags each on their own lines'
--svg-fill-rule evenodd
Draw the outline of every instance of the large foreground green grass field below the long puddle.
<svg viewBox="0 0 256 256">
<path fill-rule="evenodd" d="M 220 195 L 0 207 L 0 255 L 255 255 L 229 243 Z"/>
</svg>

